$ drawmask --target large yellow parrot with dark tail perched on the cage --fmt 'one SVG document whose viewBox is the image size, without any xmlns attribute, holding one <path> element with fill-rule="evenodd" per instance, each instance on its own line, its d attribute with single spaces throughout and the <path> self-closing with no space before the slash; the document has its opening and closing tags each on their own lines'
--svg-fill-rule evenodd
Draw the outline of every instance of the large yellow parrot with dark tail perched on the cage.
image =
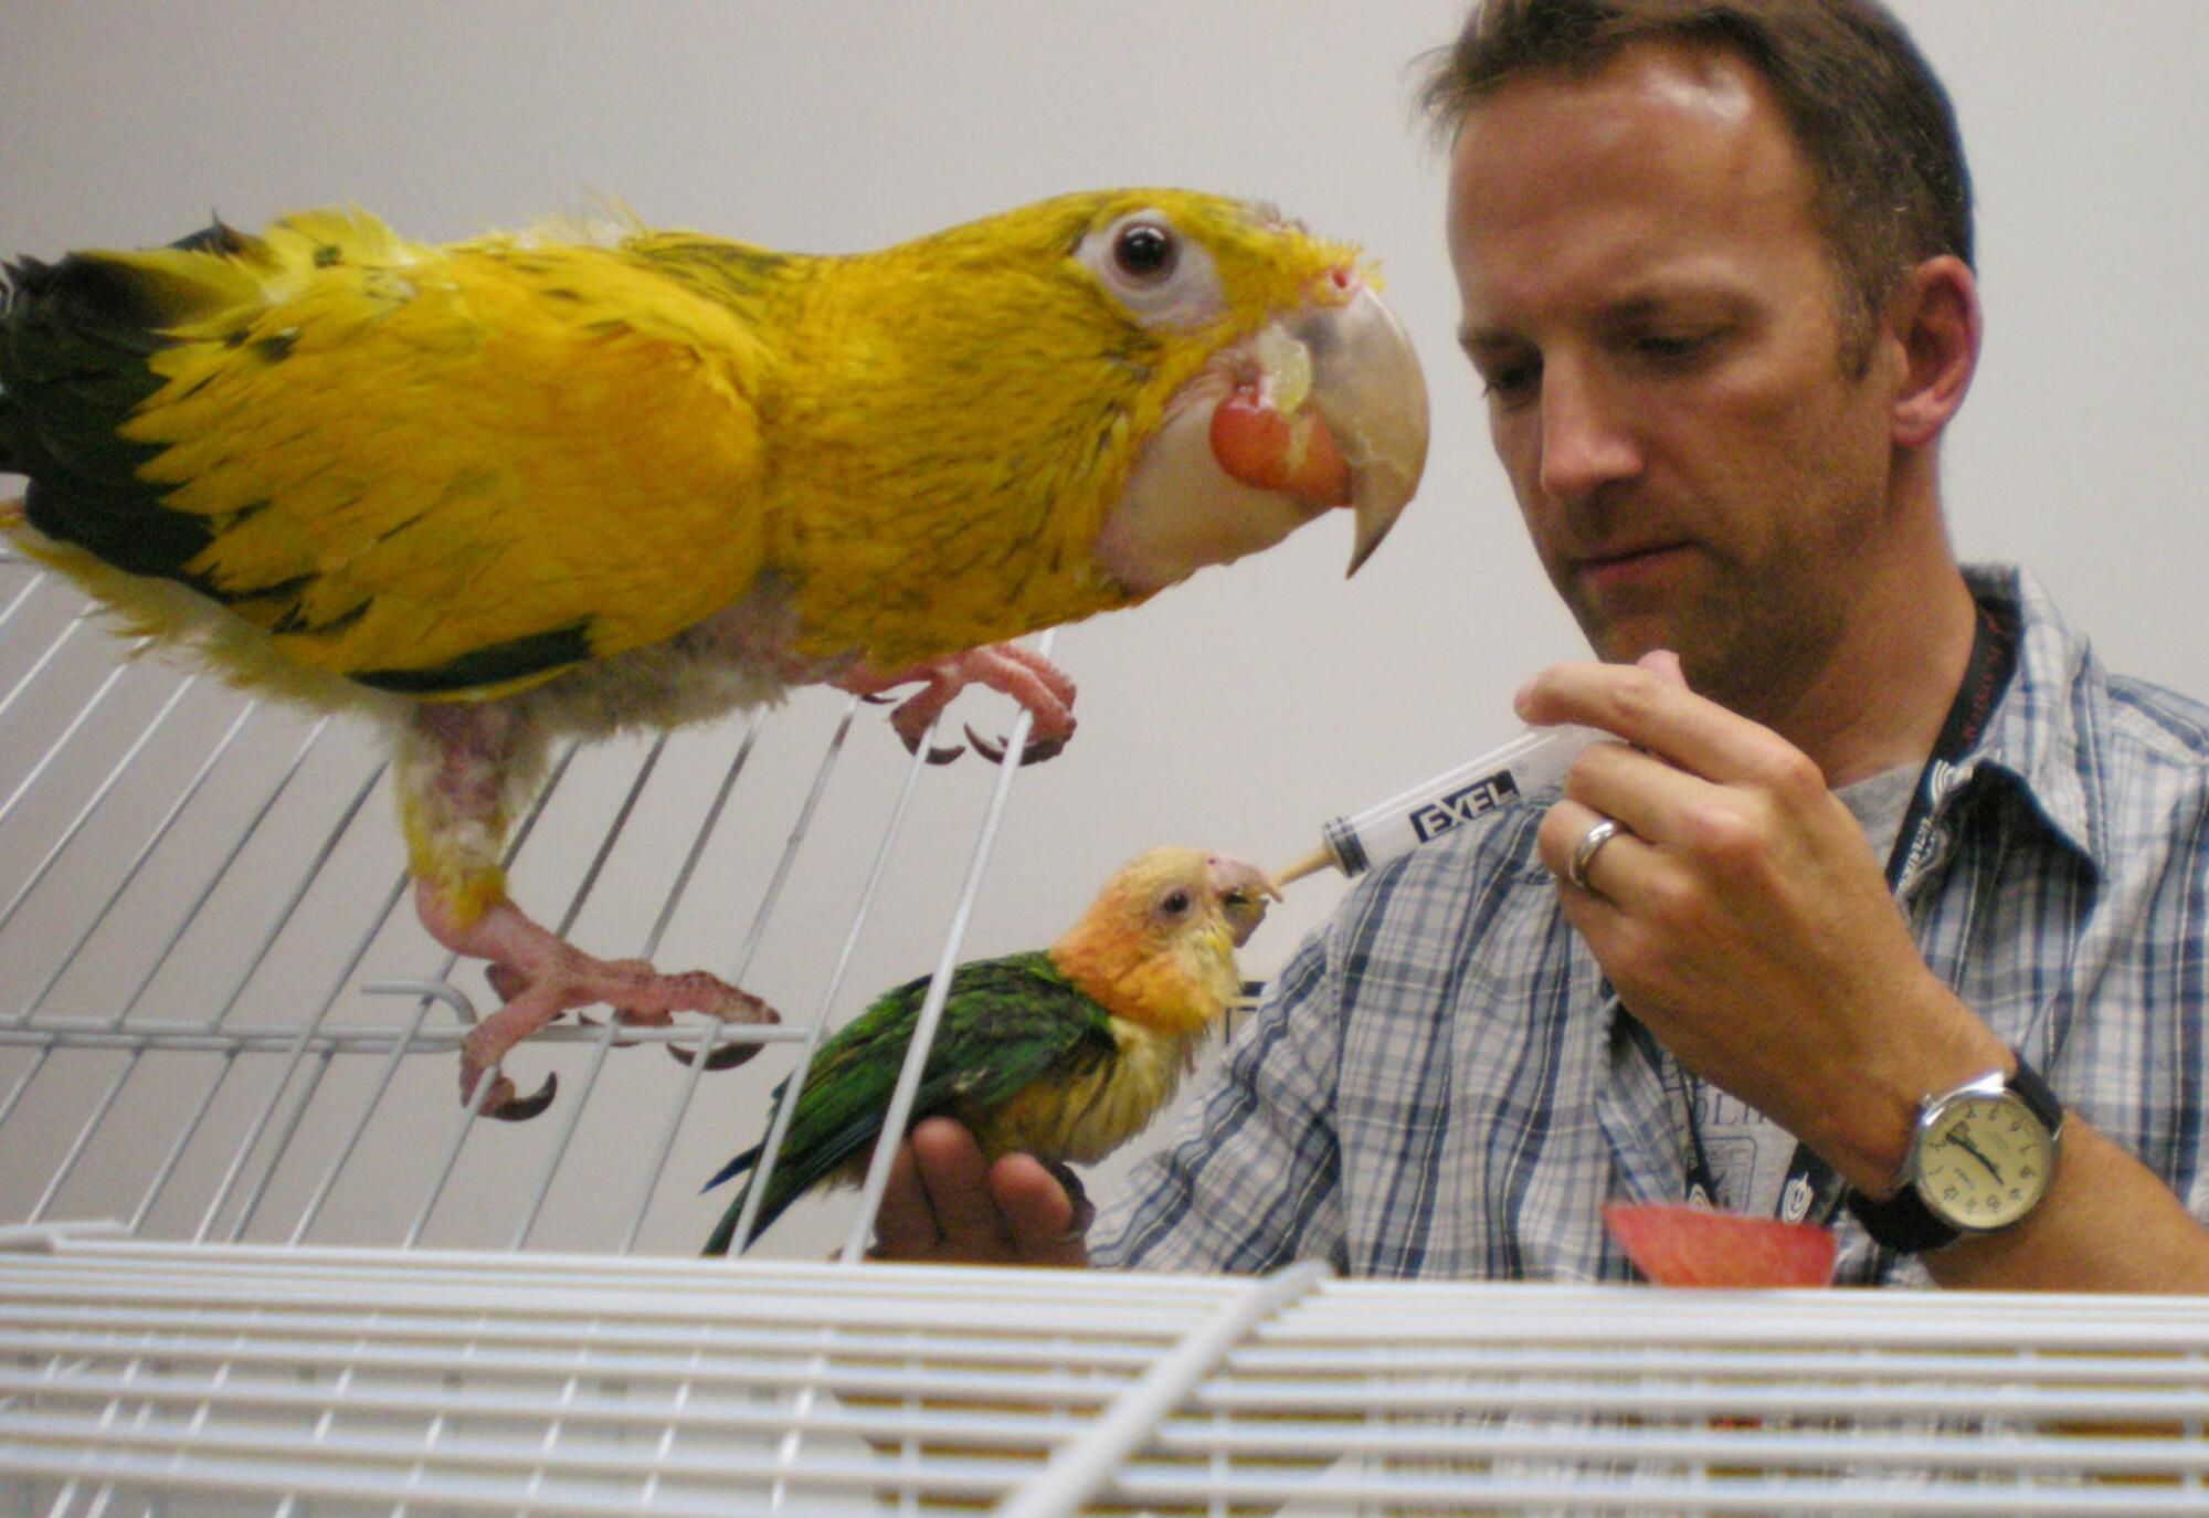
<svg viewBox="0 0 2209 1518">
<path fill-rule="evenodd" d="M 773 1019 L 512 904 L 554 738 L 921 683 L 892 714 L 917 749 L 979 683 L 1043 758 L 1074 685 L 1007 639 L 1334 506 L 1354 570 L 1425 444 L 1356 250 L 1184 190 L 850 256 L 641 225 L 431 247 L 325 210 L 24 259 L 0 303 L 0 471 L 31 482 L 0 530 L 133 632 L 380 725 L 420 917 L 506 999 L 462 1050 L 499 1116 L 550 1098 L 497 1067 L 568 1008 Z"/>
</svg>

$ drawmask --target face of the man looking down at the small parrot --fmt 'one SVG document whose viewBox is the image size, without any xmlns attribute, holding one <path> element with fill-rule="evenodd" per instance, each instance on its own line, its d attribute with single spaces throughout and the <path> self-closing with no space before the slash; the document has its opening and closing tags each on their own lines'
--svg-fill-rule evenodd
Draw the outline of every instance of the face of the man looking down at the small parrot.
<svg viewBox="0 0 2209 1518">
<path fill-rule="evenodd" d="M 1840 641 L 1886 517 L 1891 371 L 1845 373 L 1783 117 L 1725 53 L 1635 44 L 1465 119 L 1465 349 L 1535 550 L 1604 658 L 1756 714 Z"/>
</svg>

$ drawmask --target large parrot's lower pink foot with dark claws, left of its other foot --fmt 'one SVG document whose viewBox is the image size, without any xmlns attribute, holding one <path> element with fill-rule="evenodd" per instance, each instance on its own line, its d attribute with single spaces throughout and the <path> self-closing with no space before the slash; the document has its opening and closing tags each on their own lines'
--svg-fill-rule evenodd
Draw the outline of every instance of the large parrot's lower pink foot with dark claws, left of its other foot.
<svg viewBox="0 0 2209 1518">
<path fill-rule="evenodd" d="M 499 1063 L 506 1052 L 572 1008 L 610 1005 L 623 1023 L 658 1027 L 676 1012 L 702 1012 L 738 1023 L 780 1023 L 758 997 L 729 985 L 718 974 L 689 970 L 660 974 L 643 959 L 594 959 L 521 915 L 512 902 L 499 902 L 475 924 L 455 928 L 451 915 L 435 904 L 429 884 L 418 888 L 422 921 L 451 950 L 488 959 L 490 988 L 506 1003 L 477 1023 L 459 1045 L 459 1098 L 477 1103 L 477 1085 L 490 1078 L 479 1111 L 486 1118 L 519 1122 L 552 1105 L 559 1076 L 546 1076 L 543 1087 L 517 1096 Z M 758 1054 L 755 1043 L 731 1043 L 707 1061 L 714 1069 L 740 1065 Z"/>
</svg>

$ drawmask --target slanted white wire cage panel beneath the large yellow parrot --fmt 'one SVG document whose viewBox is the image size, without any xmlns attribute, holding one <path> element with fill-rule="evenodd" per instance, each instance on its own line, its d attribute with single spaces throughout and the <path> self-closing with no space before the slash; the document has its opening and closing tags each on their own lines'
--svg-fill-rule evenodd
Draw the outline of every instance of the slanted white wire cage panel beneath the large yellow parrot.
<svg viewBox="0 0 2209 1518">
<path fill-rule="evenodd" d="M 718 1202 L 669 1178 L 702 1180 L 755 1140 L 771 1085 L 705 1076 L 696 1056 L 808 1056 L 833 1010 L 879 988 L 839 1003 L 864 935 L 906 944 L 897 979 L 952 957 L 1016 773 L 930 787 L 937 815 L 917 818 L 926 767 L 899 756 L 879 795 L 824 807 L 862 709 L 842 698 L 778 714 L 780 745 L 753 711 L 561 751 L 508 851 L 563 902 L 557 926 L 773 985 L 786 1021 L 563 1019 L 512 1058 L 524 1087 L 561 1083 L 552 1109 L 484 1122 L 451 1076 L 490 992 L 413 919 L 376 745 L 117 658 L 66 583 L 20 559 L 0 577 L 0 1217 L 27 1224 L 91 1211 L 192 1242 L 694 1248 Z M 945 840 L 963 884 L 945 893 L 937 864 L 926 910 L 908 882 L 877 913 L 899 846 L 934 860 Z M 848 919 L 839 952 L 773 963 L 778 913 Z M 689 1067 L 614 1058 L 627 1045 L 674 1045 Z"/>
</svg>

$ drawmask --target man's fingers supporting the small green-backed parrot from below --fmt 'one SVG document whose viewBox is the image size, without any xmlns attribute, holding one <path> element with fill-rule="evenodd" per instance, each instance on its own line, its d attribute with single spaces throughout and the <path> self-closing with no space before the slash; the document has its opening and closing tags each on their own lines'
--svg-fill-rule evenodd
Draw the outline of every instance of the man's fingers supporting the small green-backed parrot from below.
<svg viewBox="0 0 2209 1518">
<path fill-rule="evenodd" d="M 928 1118 L 897 1149 L 870 1259 L 1087 1266 L 1093 1209 L 1071 1171 L 1027 1153 L 985 1164 L 974 1136 Z"/>
</svg>

